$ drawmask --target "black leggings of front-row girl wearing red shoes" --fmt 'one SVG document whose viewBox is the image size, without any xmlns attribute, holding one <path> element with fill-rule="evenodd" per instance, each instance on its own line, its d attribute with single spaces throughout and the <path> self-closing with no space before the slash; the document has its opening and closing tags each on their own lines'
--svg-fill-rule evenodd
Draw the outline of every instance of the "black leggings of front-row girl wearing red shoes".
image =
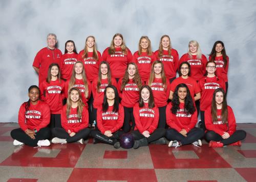
<svg viewBox="0 0 256 182">
<path fill-rule="evenodd" d="M 235 143 L 237 141 L 243 140 L 246 137 L 246 132 L 243 130 L 237 130 L 233 133 L 229 138 L 223 139 L 219 134 L 215 133 L 214 131 L 208 131 L 205 134 L 205 139 L 209 141 L 220 141 L 223 145 L 228 145 L 231 143 Z"/>
</svg>

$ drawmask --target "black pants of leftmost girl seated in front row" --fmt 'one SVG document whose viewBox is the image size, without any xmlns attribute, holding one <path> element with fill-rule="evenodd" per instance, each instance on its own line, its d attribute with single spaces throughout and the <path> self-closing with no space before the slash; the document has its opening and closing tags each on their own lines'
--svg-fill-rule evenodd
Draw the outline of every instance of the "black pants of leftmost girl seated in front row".
<svg viewBox="0 0 256 182">
<path fill-rule="evenodd" d="M 28 146 L 36 147 L 39 140 L 49 139 L 51 137 L 51 132 L 49 127 L 43 127 L 36 132 L 35 139 L 32 139 L 22 129 L 17 128 L 11 131 L 11 137 Z"/>
</svg>

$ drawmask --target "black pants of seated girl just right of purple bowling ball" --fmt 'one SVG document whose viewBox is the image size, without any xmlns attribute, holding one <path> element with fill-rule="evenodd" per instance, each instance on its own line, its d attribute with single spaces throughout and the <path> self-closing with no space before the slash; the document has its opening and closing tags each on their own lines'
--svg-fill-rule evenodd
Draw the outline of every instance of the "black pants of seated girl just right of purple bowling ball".
<svg viewBox="0 0 256 182">
<path fill-rule="evenodd" d="M 134 140 L 140 140 L 143 138 L 146 138 L 144 135 L 142 135 L 138 130 L 132 131 L 131 134 L 133 135 Z M 153 142 L 156 141 L 165 135 L 165 129 L 164 128 L 157 128 L 150 137 L 146 138 L 147 142 Z"/>
</svg>

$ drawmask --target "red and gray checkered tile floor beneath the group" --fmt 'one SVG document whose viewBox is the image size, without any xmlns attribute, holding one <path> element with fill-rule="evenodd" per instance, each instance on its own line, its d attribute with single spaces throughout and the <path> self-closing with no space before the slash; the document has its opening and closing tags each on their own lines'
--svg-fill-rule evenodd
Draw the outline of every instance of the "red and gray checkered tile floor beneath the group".
<svg viewBox="0 0 256 182">
<path fill-rule="evenodd" d="M 242 146 L 209 148 L 150 145 L 114 149 L 78 143 L 33 148 L 13 146 L 17 123 L 0 123 L 0 181 L 256 181 L 256 124 Z"/>
</svg>

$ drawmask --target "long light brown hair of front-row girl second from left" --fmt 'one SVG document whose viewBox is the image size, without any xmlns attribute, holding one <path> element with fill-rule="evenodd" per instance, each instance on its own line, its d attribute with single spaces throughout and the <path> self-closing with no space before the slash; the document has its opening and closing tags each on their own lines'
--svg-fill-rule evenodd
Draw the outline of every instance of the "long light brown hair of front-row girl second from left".
<svg viewBox="0 0 256 182">
<path fill-rule="evenodd" d="M 71 88 L 69 90 L 69 96 L 68 96 L 68 99 L 67 99 L 67 111 L 66 111 L 66 116 L 67 118 L 69 117 L 69 114 L 70 114 L 70 110 L 71 110 L 71 107 L 72 107 L 72 100 L 70 98 L 70 94 L 73 90 L 76 90 L 78 93 L 79 93 L 79 100 L 78 100 L 78 106 L 77 106 L 77 109 L 76 109 L 76 113 L 77 113 L 77 117 L 79 119 L 82 118 L 82 109 L 84 107 L 84 103 L 82 102 L 82 99 L 81 99 L 81 92 L 78 88 Z"/>
</svg>

